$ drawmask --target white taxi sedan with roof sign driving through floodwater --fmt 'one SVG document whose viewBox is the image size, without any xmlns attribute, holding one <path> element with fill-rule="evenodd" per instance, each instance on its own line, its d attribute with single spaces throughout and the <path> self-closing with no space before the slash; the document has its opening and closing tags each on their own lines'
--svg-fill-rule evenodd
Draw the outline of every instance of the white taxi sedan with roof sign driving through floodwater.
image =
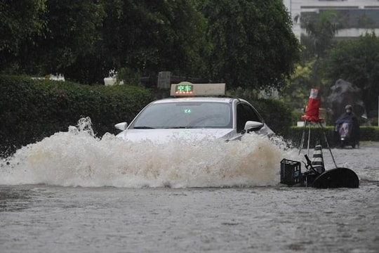
<svg viewBox="0 0 379 253">
<path fill-rule="evenodd" d="M 117 137 L 164 143 L 170 138 L 232 141 L 252 131 L 273 134 L 253 105 L 225 96 L 225 84 L 182 82 L 171 86 L 171 96 L 149 103 L 131 124 L 116 124 Z"/>
</svg>

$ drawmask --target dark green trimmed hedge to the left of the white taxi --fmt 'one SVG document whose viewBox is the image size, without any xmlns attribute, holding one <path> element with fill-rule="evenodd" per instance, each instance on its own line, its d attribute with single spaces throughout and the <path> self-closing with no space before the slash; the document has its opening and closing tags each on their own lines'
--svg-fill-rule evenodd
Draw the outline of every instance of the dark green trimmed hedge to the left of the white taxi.
<svg viewBox="0 0 379 253">
<path fill-rule="evenodd" d="M 98 136 L 114 124 L 131 122 L 150 101 L 152 91 L 138 86 L 88 86 L 0 75 L 0 155 L 67 131 L 91 117 Z"/>
</svg>

